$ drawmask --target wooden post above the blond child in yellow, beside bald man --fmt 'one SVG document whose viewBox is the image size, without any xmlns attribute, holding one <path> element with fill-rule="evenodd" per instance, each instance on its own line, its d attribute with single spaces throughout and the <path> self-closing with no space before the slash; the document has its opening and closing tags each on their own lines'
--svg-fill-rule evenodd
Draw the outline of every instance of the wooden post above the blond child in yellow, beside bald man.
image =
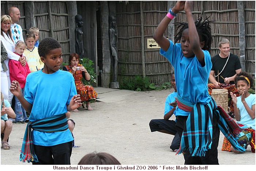
<svg viewBox="0 0 256 171">
<path fill-rule="evenodd" d="M 36 27 L 35 26 L 35 5 L 34 1 L 25 1 L 25 20 L 26 20 L 26 28 L 27 33 L 29 32 L 29 28 Z"/>
</svg>

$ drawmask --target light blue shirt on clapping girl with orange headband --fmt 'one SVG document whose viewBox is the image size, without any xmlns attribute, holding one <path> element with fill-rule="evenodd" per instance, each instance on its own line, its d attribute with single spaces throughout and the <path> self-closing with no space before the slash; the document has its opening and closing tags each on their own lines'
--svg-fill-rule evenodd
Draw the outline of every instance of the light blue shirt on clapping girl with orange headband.
<svg viewBox="0 0 256 171">
<path fill-rule="evenodd" d="M 245 98 L 245 102 L 248 104 L 250 109 L 252 109 L 252 105 L 255 105 L 255 94 L 250 94 L 247 98 Z M 237 108 L 239 109 L 240 113 L 240 121 L 237 121 L 237 123 L 241 123 L 247 128 L 252 127 L 252 129 L 255 130 L 255 119 L 252 119 L 246 111 L 244 104 L 241 101 L 241 96 L 237 97 Z"/>
</svg>

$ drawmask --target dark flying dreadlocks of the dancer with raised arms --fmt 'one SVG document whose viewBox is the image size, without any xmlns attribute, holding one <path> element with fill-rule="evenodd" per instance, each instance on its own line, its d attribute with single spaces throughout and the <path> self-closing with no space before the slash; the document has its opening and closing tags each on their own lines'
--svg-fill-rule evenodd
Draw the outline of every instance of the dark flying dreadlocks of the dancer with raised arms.
<svg viewBox="0 0 256 171">
<path fill-rule="evenodd" d="M 208 18 L 210 18 L 210 17 L 208 17 Z M 200 42 L 205 41 L 205 45 L 202 49 L 208 50 L 210 52 L 212 36 L 211 36 L 210 21 L 208 20 L 208 18 L 206 18 L 204 21 L 202 21 L 202 19 L 203 19 L 203 12 L 202 12 L 202 16 L 195 21 L 195 25 L 196 25 L 196 30 L 197 30 Z M 183 31 L 186 28 L 188 28 L 188 23 L 184 23 L 184 22 L 182 22 L 182 23 L 176 22 L 176 23 L 179 24 L 176 31 L 178 31 L 179 28 L 180 28 L 180 31 L 175 35 L 174 43 L 180 41 Z"/>
</svg>

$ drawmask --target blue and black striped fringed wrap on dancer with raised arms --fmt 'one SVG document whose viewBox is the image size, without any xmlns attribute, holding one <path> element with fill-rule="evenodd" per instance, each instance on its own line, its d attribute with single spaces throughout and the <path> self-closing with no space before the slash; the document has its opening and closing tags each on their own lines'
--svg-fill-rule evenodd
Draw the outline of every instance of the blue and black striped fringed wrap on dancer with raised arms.
<svg viewBox="0 0 256 171">
<path fill-rule="evenodd" d="M 230 141 L 234 149 L 244 152 L 236 137 L 242 131 L 237 123 L 220 107 L 214 99 L 207 104 L 193 104 L 177 94 L 177 106 L 190 112 L 181 137 L 180 148 L 176 154 L 186 153 L 192 156 L 205 156 L 212 144 L 212 115 L 217 116 L 218 127 Z M 177 113 L 176 113 L 177 114 Z"/>
</svg>

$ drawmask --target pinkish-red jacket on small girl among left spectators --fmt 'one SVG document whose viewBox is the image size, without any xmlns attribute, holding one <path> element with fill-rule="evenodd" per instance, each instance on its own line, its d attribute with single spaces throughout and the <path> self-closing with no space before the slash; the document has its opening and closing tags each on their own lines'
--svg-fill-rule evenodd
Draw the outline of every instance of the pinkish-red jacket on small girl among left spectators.
<svg viewBox="0 0 256 171">
<path fill-rule="evenodd" d="M 11 81 L 18 81 L 20 88 L 24 88 L 26 77 L 30 73 L 29 65 L 26 63 L 26 65 L 23 67 L 19 61 L 15 60 L 10 60 L 8 64 Z"/>
</svg>

